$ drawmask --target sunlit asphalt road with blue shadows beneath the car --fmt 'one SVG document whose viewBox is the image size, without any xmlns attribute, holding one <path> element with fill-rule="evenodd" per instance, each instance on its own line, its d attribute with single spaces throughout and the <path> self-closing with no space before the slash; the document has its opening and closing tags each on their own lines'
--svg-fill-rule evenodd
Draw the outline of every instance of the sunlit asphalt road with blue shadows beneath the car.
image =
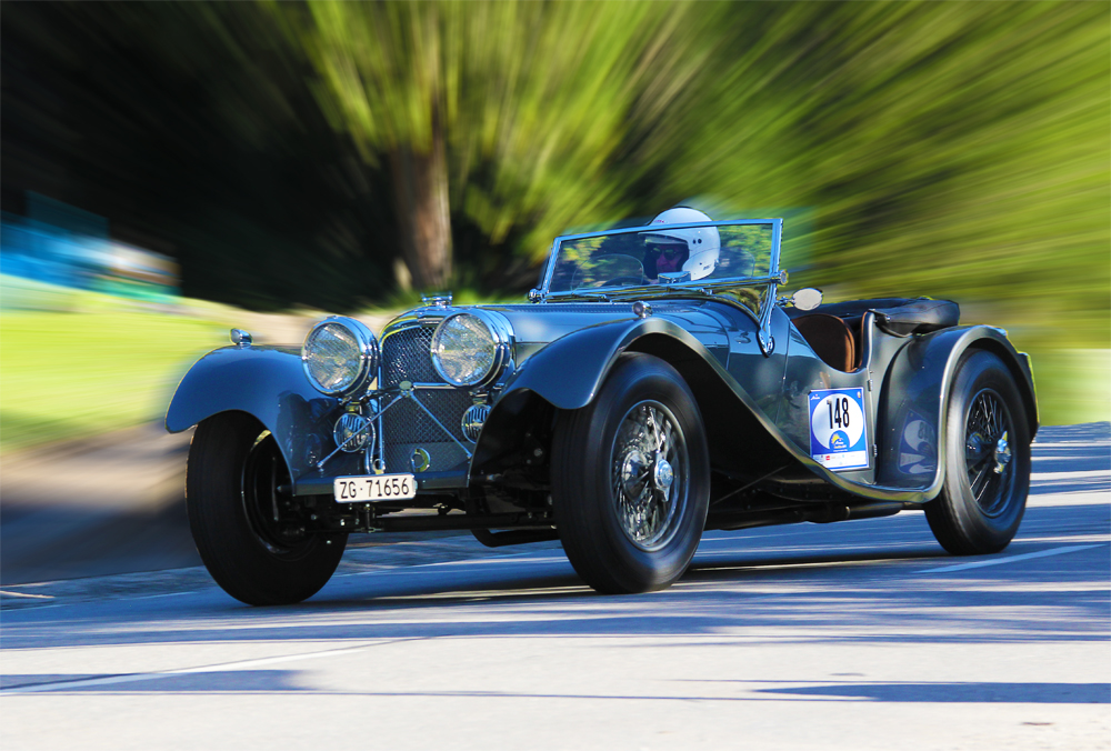
<svg viewBox="0 0 1111 751">
<path fill-rule="evenodd" d="M 203 569 L 6 587 L 14 749 L 1111 748 L 1111 441 L 1045 429 L 998 555 L 921 513 L 711 533 L 601 597 L 554 543 L 362 547 L 312 600 Z"/>
</svg>

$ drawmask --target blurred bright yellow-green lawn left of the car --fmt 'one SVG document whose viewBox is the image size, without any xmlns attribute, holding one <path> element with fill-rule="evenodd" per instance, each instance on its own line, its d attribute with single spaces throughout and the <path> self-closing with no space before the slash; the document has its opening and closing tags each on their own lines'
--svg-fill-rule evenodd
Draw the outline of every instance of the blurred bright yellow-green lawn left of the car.
<svg viewBox="0 0 1111 751">
<path fill-rule="evenodd" d="M 216 321 L 96 302 L 0 312 L 0 451 L 157 419 L 189 364 L 228 341 Z"/>
</svg>

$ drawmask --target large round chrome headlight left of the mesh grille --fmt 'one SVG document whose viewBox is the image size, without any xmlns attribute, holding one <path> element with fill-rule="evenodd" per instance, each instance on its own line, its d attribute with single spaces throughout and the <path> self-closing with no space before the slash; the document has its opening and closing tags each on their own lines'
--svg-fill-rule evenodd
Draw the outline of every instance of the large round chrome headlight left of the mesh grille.
<svg viewBox="0 0 1111 751">
<path fill-rule="evenodd" d="M 326 318 L 304 338 L 301 364 L 318 390 L 332 397 L 347 395 L 367 385 L 378 372 L 378 340 L 353 318 Z"/>
</svg>

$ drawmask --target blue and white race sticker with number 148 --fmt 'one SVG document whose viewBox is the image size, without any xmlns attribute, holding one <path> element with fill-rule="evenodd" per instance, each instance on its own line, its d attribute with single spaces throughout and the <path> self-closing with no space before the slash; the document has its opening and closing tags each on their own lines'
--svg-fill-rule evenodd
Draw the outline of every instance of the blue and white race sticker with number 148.
<svg viewBox="0 0 1111 751">
<path fill-rule="evenodd" d="M 810 392 L 810 455 L 834 472 L 868 468 L 863 389 Z"/>
</svg>

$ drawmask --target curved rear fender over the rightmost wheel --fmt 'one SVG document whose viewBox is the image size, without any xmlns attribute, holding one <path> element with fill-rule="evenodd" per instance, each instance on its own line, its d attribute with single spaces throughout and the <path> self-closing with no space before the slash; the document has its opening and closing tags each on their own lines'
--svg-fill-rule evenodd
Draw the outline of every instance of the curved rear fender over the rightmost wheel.
<svg viewBox="0 0 1111 751">
<path fill-rule="evenodd" d="M 878 414 L 877 482 L 922 489 L 934 498 L 945 477 L 945 417 L 961 356 L 969 349 L 997 354 L 1022 394 L 1030 437 L 1038 431 L 1038 402 L 1029 358 L 988 326 L 954 328 L 915 338 L 888 369 Z"/>
</svg>

